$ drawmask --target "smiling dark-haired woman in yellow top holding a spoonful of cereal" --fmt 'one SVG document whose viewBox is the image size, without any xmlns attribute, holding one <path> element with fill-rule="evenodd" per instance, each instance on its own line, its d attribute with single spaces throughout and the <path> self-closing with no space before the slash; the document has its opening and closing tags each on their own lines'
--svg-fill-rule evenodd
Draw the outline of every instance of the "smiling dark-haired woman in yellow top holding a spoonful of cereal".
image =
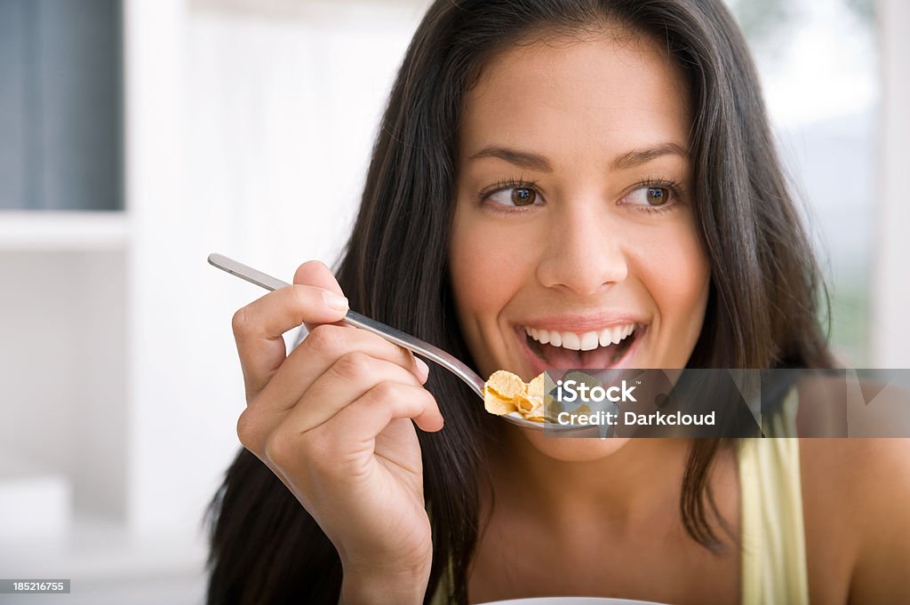
<svg viewBox="0 0 910 605">
<path fill-rule="evenodd" d="M 544 439 L 334 325 L 349 304 L 484 376 L 830 367 L 720 0 L 435 3 L 337 281 L 310 262 L 294 283 L 234 318 L 246 449 L 212 505 L 209 603 L 910 600 L 907 482 L 885 498 L 903 441 Z"/>
</svg>

